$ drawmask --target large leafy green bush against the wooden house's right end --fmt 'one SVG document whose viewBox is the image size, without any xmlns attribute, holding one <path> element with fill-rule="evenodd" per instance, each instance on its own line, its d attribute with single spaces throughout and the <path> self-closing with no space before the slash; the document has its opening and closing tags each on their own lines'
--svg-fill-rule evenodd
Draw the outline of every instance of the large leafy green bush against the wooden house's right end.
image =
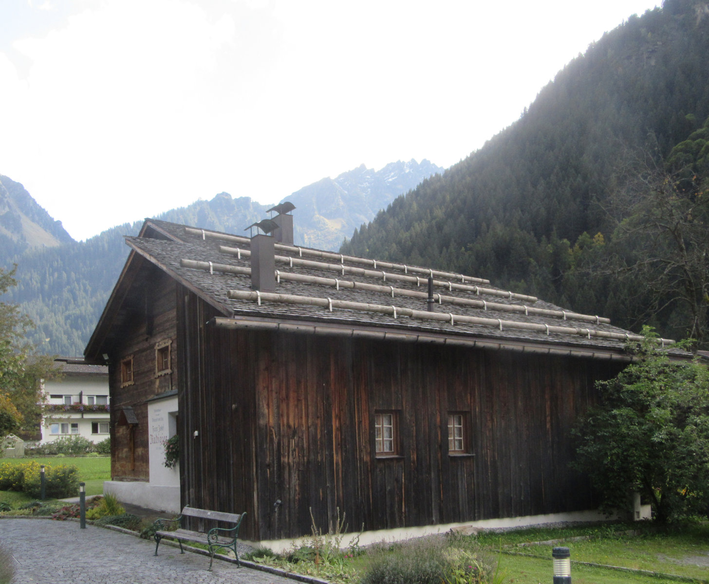
<svg viewBox="0 0 709 584">
<path fill-rule="evenodd" d="M 650 341 L 635 351 L 637 363 L 598 382 L 600 403 L 576 422 L 574 467 L 591 477 L 605 510 L 632 512 L 640 493 L 657 522 L 705 515 L 709 371 L 670 360 Z"/>
</svg>

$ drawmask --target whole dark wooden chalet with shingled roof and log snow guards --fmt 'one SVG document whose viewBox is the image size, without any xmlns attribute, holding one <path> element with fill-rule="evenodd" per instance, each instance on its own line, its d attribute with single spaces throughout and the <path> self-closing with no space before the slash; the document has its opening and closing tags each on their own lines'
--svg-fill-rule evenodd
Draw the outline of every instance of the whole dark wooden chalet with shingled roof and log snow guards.
<svg viewBox="0 0 709 584">
<path fill-rule="evenodd" d="M 321 529 L 339 509 L 371 531 L 595 507 L 569 429 L 638 337 L 483 279 L 277 235 L 146 220 L 126 238 L 85 352 L 109 365 L 123 500 L 246 511 L 252 541 L 309 534 L 311 510 Z"/>
</svg>

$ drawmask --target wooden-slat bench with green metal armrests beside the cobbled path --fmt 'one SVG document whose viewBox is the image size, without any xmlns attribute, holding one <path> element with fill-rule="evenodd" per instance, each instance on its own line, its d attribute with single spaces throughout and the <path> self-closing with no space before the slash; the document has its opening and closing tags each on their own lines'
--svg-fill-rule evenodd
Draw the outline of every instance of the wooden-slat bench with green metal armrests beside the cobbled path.
<svg viewBox="0 0 709 584">
<path fill-rule="evenodd" d="M 212 569 L 214 554 L 218 549 L 230 549 L 236 556 L 237 566 L 241 567 L 239 554 L 236 549 L 236 540 L 239 537 L 239 526 L 244 520 L 246 513 L 237 515 L 235 513 L 224 513 L 220 511 L 208 511 L 206 509 L 195 509 L 194 507 L 185 506 L 182 513 L 177 519 L 159 519 L 155 521 L 153 527 L 155 529 L 155 555 L 157 556 L 157 546 L 160 545 L 160 540 L 163 537 L 169 539 L 177 539 L 179 542 L 180 554 L 184 554 L 182 549 L 183 541 L 193 541 L 197 544 L 206 544 L 209 546 L 209 569 Z M 223 521 L 230 523 L 233 527 L 213 527 L 202 532 L 194 532 L 189 529 L 182 529 L 182 519 L 184 517 L 196 517 L 201 520 Z M 166 529 L 169 525 L 177 524 L 177 529 Z"/>
</svg>

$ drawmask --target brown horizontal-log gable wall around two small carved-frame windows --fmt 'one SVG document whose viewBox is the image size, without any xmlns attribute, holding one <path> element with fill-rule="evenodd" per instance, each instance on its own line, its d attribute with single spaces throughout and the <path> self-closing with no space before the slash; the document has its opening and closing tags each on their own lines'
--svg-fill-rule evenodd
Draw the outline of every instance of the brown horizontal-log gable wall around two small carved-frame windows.
<svg viewBox="0 0 709 584">
<path fill-rule="evenodd" d="M 141 268 L 142 288 L 125 299 L 121 310 L 129 315 L 117 335 L 120 346 L 109 348 L 108 386 L 111 393 L 111 476 L 116 481 L 147 481 L 150 478 L 147 402 L 158 393 L 177 388 L 175 354 L 175 284 L 159 269 L 145 262 Z M 155 344 L 172 339 L 172 373 L 155 376 Z M 133 355 L 133 385 L 121 388 L 121 361 Z M 138 417 L 133 429 L 133 460 L 130 428 L 118 425 L 123 405 L 130 405 Z"/>
</svg>

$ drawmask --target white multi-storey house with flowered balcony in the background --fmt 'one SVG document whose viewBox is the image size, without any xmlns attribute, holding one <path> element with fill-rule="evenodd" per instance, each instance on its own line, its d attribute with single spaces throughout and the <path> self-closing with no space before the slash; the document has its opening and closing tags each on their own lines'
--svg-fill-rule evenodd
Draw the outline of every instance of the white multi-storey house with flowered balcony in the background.
<svg viewBox="0 0 709 584">
<path fill-rule="evenodd" d="M 108 366 L 87 365 L 83 359 L 55 359 L 62 377 L 43 383 L 45 417 L 42 440 L 82 436 L 97 443 L 110 435 Z"/>
</svg>

